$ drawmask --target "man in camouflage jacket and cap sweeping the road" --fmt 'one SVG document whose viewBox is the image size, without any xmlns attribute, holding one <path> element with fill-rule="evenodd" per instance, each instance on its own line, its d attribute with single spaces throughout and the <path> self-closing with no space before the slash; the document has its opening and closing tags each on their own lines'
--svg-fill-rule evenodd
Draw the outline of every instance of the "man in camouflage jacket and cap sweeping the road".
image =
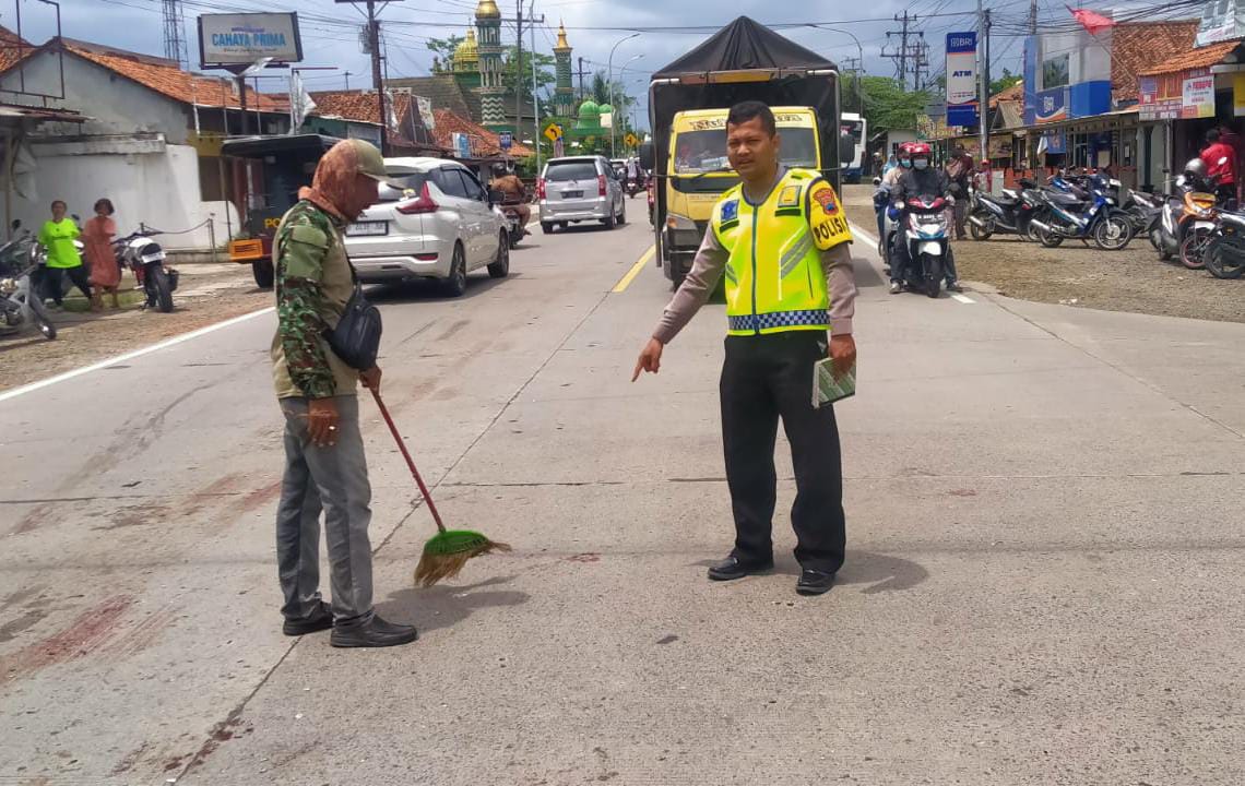
<svg viewBox="0 0 1245 786">
<path fill-rule="evenodd" d="M 356 392 L 360 379 L 378 387 L 381 369 L 356 372 L 322 337 L 354 290 L 342 230 L 376 204 L 383 179 L 380 150 L 359 139 L 339 142 L 320 159 L 311 188 L 299 192 L 300 201 L 273 239 L 273 381 L 285 415 L 285 476 L 276 509 L 283 631 L 304 636 L 332 628 L 334 647 L 391 647 L 417 636 L 413 627 L 391 624 L 372 611 L 371 485 Z M 320 599 L 321 510 L 331 607 Z"/>
</svg>

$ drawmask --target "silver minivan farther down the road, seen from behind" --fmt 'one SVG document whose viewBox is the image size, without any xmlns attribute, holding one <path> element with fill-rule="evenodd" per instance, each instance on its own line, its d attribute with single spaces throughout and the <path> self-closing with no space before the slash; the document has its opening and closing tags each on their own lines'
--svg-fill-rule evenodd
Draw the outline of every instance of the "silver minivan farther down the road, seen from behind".
<svg viewBox="0 0 1245 786">
<path fill-rule="evenodd" d="M 547 235 L 580 221 L 600 221 L 606 229 L 626 224 L 622 183 L 604 155 L 550 159 L 537 182 L 537 199 Z"/>
</svg>

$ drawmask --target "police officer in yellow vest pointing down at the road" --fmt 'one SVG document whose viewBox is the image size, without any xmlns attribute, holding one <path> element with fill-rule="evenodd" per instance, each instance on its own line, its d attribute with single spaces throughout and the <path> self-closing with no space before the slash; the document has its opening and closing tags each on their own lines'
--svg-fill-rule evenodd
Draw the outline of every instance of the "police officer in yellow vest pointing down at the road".
<svg viewBox="0 0 1245 786">
<path fill-rule="evenodd" d="M 657 373 L 662 348 L 726 276 L 728 336 L 721 402 L 735 548 L 713 581 L 773 567 L 774 440 L 782 418 L 796 468 L 792 525 L 801 594 L 820 594 L 843 565 L 845 526 L 839 433 L 832 407 L 813 408 L 813 366 L 855 361 L 852 233 L 830 184 L 779 163 L 781 138 L 763 103 L 736 104 L 726 121 L 727 155 L 742 183 L 713 208 L 691 272 L 640 353 Z M 827 332 L 829 340 L 827 341 Z"/>
</svg>

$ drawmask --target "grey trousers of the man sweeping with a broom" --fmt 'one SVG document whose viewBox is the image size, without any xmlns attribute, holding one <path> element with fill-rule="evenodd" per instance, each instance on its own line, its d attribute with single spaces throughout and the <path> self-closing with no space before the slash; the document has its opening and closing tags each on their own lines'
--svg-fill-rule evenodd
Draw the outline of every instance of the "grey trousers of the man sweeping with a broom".
<svg viewBox="0 0 1245 786">
<path fill-rule="evenodd" d="M 276 570 L 286 619 L 301 619 L 320 603 L 320 512 L 329 545 L 335 621 L 372 614 L 372 547 L 367 525 L 372 489 L 367 483 L 359 398 L 336 399 L 341 419 L 337 444 L 317 448 L 308 430 L 308 399 L 283 398 L 285 476 L 276 507 Z"/>
</svg>

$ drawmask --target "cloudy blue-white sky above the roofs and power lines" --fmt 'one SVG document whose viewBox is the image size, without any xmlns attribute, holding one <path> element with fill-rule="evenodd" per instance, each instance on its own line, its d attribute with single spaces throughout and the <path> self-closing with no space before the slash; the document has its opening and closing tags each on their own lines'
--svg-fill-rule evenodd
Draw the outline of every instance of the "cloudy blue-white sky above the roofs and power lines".
<svg viewBox="0 0 1245 786">
<path fill-rule="evenodd" d="M 15 27 L 12 2 L 0 0 L 0 24 Z M 306 66 L 335 66 L 337 71 L 309 73 L 312 90 L 335 90 L 345 86 L 345 72 L 350 71 L 351 87 L 371 86 L 369 58 L 360 52 L 359 25 L 362 14 L 355 6 L 332 0 L 183 0 L 186 31 L 189 37 L 192 67 L 198 65 L 195 16 L 203 12 L 243 10 L 298 10 L 300 14 Z M 725 6 L 735 10 L 726 10 Z M 1030 0 L 997 0 L 987 2 L 996 19 L 1022 21 L 1028 12 Z M 388 46 L 388 75 L 423 76 L 432 63 L 427 50 L 430 37 L 461 35 L 472 17 L 473 0 L 401 0 L 390 4 L 381 14 L 382 30 Z M 500 0 L 503 14 L 513 17 L 513 0 Z M 63 34 L 67 37 L 105 44 L 148 55 L 164 53 L 161 0 L 61 0 Z M 360 6 L 361 7 L 361 6 Z M 763 24 L 824 22 L 854 34 L 864 50 L 865 70 L 870 75 L 894 76 L 895 63 L 884 58 L 883 49 L 898 47 L 899 36 L 888 40 L 888 31 L 898 31 L 901 25 L 891 20 L 908 10 L 918 21 L 910 31 L 924 32 L 929 44 L 929 68 L 936 75 L 942 71 L 944 42 L 950 31 L 975 27 L 976 0 L 870 0 L 867 2 L 764 2 L 762 0 L 537 0 L 535 14 L 543 14 L 545 24 L 535 31 L 537 49 L 550 51 L 559 20 L 565 20 L 568 39 L 574 55 L 584 56 L 591 65 L 589 71 L 604 68 L 610 49 L 629 35 L 616 30 L 585 30 L 588 27 L 655 27 L 702 26 L 720 27 L 736 15 L 746 14 Z M 1040 0 L 1042 19 L 1068 19 L 1063 6 L 1056 0 Z M 952 15 L 965 12 L 965 15 Z M 527 12 L 527 11 L 524 11 Z M 936 15 L 936 16 L 935 16 Z M 37 2 L 22 4 L 22 30 L 27 40 L 41 42 L 55 35 L 52 9 Z M 923 19 L 924 17 L 924 19 Z M 870 21 L 873 20 L 873 21 Z M 884 21 L 891 20 L 891 21 Z M 708 32 L 644 32 L 636 39 L 619 45 L 614 56 L 618 70 L 635 55 L 640 60 L 630 63 L 624 80 L 634 95 L 645 91 L 645 77 L 655 68 L 675 60 L 688 49 L 703 41 Z M 845 32 L 824 29 L 783 30 L 782 35 L 827 55 L 840 65 L 847 57 L 855 57 L 857 45 Z M 530 36 L 524 32 L 524 46 Z M 503 29 L 503 41 L 514 40 L 513 24 Z M 913 40 L 915 42 L 915 39 Z M 1002 66 L 1018 68 L 1023 44 L 1016 36 L 1000 36 L 994 41 L 992 62 L 995 71 Z M 599 63 L 599 66 L 596 65 Z M 268 90 L 278 90 L 273 81 Z M 265 88 L 261 85 L 261 90 Z M 641 112 L 644 107 L 641 107 Z M 642 121 L 641 121 L 642 123 Z"/>
</svg>

